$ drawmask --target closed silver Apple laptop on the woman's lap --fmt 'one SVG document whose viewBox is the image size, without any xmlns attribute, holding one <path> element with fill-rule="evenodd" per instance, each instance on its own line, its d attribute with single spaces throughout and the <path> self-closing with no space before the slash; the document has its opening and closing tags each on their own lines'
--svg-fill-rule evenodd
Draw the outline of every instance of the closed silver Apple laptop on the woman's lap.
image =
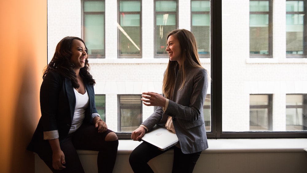
<svg viewBox="0 0 307 173">
<path fill-rule="evenodd" d="M 173 133 L 165 127 L 155 125 L 149 132 L 145 133 L 142 141 L 150 143 L 164 151 L 176 145 L 178 143 L 178 137 L 176 133 Z"/>
</svg>

